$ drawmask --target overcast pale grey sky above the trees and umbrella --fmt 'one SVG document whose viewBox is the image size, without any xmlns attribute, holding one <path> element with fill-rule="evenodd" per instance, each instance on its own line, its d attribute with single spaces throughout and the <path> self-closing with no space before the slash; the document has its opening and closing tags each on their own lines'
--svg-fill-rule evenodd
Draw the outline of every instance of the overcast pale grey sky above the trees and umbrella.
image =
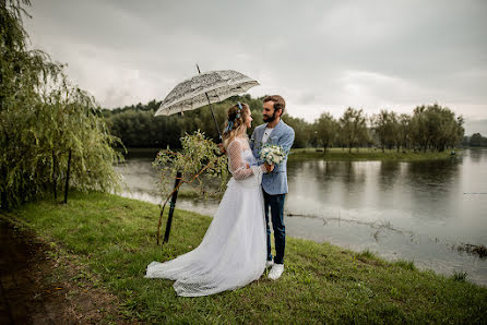
<svg viewBox="0 0 487 325">
<path fill-rule="evenodd" d="M 237 70 L 294 117 L 438 103 L 487 135 L 487 1 L 32 0 L 32 46 L 106 108 Z"/>
</svg>

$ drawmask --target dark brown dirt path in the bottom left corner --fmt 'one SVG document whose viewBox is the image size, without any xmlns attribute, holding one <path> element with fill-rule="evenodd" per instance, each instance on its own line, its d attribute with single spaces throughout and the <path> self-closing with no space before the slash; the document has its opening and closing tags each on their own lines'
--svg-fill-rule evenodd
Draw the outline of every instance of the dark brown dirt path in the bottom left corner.
<svg viewBox="0 0 487 325">
<path fill-rule="evenodd" d="M 80 267 L 60 267 L 69 261 L 49 252 L 0 218 L 0 324 L 133 323 L 119 314 L 116 297 L 80 279 Z"/>
</svg>

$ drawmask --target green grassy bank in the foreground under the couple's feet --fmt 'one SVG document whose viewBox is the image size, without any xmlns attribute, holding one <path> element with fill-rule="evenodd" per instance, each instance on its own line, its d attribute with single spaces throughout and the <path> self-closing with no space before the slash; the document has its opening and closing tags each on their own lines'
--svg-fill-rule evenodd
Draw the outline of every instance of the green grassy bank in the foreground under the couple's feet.
<svg viewBox="0 0 487 325">
<path fill-rule="evenodd" d="M 157 246 L 158 206 L 102 193 L 73 193 L 67 206 L 29 203 L 2 214 L 52 242 L 80 274 L 117 294 L 128 316 L 157 323 L 486 323 L 487 289 L 462 276 L 419 272 L 369 252 L 288 238 L 286 272 L 245 288 L 179 298 L 173 281 L 144 279 L 146 265 L 195 248 L 210 217 L 176 210 L 169 243 Z M 1 214 L 1 213 L 0 213 Z"/>
</svg>

